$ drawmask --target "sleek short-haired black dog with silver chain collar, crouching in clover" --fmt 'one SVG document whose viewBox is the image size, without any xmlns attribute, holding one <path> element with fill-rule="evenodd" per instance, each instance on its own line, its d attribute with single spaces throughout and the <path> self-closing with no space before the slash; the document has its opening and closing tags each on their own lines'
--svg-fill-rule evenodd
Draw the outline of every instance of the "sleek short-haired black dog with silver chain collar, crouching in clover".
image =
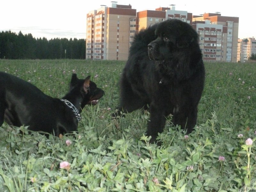
<svg viewBox="0 0 256 192">
<path fill-rule="evenodd" d="M 84 106 L 96 104 L 103 94 L 104 91 L 90 81 L 90 76 L 78 79 L 73 74 L 69 92 L 60 100 L 16 76 L 0 72 L 0 126 L 5 121 L 55 136 L 77 131 Z"/>
</svg>

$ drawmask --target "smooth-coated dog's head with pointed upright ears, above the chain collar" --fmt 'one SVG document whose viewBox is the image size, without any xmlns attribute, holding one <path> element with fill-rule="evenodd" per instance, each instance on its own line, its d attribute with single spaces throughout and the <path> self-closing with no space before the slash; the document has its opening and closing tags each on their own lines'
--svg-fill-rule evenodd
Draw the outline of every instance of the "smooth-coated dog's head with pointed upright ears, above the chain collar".
<svg viewBox="0 0 256 192">
<path fill-rule="evenodd" d="M 76 92 L 82 98 L 81 108 L 87 104 L 96 105 L 98 100 L 104 95 L 104 91 L 90 80 L 91 76 L 85 79 L 78 79 L 76 74 L 72 75 L 70 81 L 70 92 Z"/>
</svg>

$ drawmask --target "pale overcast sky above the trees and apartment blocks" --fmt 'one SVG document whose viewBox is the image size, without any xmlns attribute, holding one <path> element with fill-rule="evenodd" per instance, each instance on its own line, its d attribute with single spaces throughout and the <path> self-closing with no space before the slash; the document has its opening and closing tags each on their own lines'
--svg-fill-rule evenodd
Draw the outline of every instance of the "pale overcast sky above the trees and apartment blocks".
<svg viewBox="0 0 256 192">
<path fill-rule="evenodd" d="M 117 1 L 117 0 L 116 0 Z M 122 0 L 117 4 L 131 4 L 133 9 L 155 10 L 175 4 L 175 10 L 188 11 L 193 15 L 221 12 L 222 16 L 239 17 L 238 38 L 256 37 L 255 0 L 235 1 L 213 0 L 157 0 L 147 1 Z M 148 1 L 149 2 L 149 1 Z M 197 3 L 196 3 L 197 2 Z M 232 2 L 232 3 L 230 3 Z M 31 33 L 34 37 L 51 38 L 86 38 L 86 14 L 100 8 L 100 5 L 111 6 L 105 0 L 2 0 L 0 3 L 0 31 L 23 34 Z"/>
</svg>

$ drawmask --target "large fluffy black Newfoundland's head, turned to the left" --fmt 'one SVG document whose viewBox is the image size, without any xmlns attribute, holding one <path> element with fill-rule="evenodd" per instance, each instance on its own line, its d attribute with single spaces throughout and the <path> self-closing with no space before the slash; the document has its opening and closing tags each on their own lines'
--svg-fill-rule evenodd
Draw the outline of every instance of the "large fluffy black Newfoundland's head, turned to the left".
<svg viewBox="0 0 256 192">
<path fill-rule="evenodd" d="M 155 36 L 156 39 L 148 44 L 151 60 L 170 60 L 178 52 L 186 52 L 192 44 L 198 44 L 198 34 L 192 26 L 177 19 L 159 23 Z"/>
</svg>

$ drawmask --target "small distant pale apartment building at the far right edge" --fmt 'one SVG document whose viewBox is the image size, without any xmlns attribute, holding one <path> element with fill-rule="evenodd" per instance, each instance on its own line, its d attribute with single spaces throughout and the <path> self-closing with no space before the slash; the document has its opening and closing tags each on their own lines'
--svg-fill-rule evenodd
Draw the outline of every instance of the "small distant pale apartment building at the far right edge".
<svg viewBox="0 0 256 192">
<path fill-rule="evenodd" d="M 238 39 L 237 62 L 244 63 L 249 60 L 252 53 L 256 54 L 256 40 L 254 37 Z"/>
</svg>

